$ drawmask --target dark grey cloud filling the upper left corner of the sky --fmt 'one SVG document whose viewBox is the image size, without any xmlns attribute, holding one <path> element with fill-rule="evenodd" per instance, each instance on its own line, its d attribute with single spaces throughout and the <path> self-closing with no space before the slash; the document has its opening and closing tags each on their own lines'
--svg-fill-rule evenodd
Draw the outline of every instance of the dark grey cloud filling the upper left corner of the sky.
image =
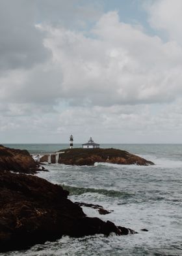
<svg viewBox="0 0 182 256">
<path fill-rule="evenodd" d="M 51 54 L 36 29 L 34 1 L 0 1 L 0 70 L 29 68 Z"/>
</svg>

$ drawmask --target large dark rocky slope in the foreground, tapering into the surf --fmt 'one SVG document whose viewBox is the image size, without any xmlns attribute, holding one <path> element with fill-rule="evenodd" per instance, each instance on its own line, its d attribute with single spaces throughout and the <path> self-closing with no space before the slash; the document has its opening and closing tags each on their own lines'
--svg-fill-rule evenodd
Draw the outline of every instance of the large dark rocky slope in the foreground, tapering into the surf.
<svg viewBox="0 0 182 256">
<path fill-rule="evenodd" d="M 0 251 L 29 248 L 63 234 L 135 233 L 110 221 L 87 217 L 67 199 L 68 191 L 32 175 L 0 172 Z"/>
</svg>

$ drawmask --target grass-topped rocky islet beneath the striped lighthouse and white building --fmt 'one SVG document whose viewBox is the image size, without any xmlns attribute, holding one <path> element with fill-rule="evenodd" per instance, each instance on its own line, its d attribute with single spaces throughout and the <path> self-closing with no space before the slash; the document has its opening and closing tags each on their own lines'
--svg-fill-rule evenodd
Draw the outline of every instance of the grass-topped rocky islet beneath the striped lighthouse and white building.
<svg viewBox="0 0 182 256">
<path fill-rule="evenodd" d="M 142 157 L 114 148 L 73 148 L 72 150 L 60 150 L 60 152 L 65 153 L 60 154 L 59 163 L 65 165 L 94 165 L 96 162 L 116 163 L 119 165 L 154 165 L 154 163 Z M 47 157 L 42 157 L 40 161 L 47 161 Z M 52 158 L 51 162 L 55 163 L 55 159 Z"/>
</svg>

